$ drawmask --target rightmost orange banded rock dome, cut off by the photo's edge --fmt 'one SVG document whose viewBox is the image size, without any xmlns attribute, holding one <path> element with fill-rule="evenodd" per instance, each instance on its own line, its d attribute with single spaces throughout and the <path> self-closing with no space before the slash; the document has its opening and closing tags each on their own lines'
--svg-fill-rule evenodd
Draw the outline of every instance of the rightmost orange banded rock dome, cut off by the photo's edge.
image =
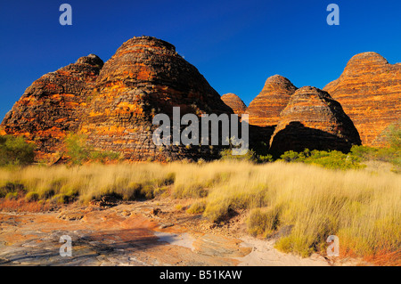
<svg viewBox="0 0 401 284">
<path fill-rule="evenodd" d="M 323 88 L 339 101 L 367 146 L 386 144 L 383 131 L 401 118 L 401 64 L 378 53 L 360 53 Z"/>
</svg>

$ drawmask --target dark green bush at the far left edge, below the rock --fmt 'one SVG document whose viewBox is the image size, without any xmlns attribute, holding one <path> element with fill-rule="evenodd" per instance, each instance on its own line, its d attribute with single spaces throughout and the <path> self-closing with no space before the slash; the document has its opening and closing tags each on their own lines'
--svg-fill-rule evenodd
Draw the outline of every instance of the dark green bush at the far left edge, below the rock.
<svg viewBox="0 0 401 284">
<path fill-rule="evenodd" d="M 22 137 L 0 136 L 0 166 L 27 166 L 34 162 L 34 150 Z"/>
</svg>

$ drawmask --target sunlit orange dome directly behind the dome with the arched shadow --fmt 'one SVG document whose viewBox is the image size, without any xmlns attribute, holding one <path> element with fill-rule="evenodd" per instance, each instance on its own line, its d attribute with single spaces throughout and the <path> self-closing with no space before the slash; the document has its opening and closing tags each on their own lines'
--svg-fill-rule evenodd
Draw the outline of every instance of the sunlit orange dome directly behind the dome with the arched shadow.
<svg viewBox="0 0 401 284">
<path fill-rule="evenodd" d="M 280 119 L 280 112 L 290 101 L 291 94 L 297 90 L 291 81 L 280 75 L 268 77 L 262 92 L 250 102 L 246 113 L 250 116 L 250 125 L 275 126 Z"/>
</svg>

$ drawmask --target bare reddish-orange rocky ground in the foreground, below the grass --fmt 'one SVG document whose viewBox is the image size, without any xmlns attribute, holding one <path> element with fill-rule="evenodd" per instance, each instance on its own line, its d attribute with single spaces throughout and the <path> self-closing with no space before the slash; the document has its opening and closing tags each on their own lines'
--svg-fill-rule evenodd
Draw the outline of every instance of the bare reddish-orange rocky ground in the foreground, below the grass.
<svg viewBox="0 0 401 284">
<path fill-rule="evenodd" d="M 355 265 L 300 258 L 248 236 L 240 214 L 221 225 L 156 199 L 112 207 L 70 205 L 47 213 L 0 212 L 0 265 Z M 110 204 L 109 204 L 110 205 Z M 62 235 L 72 256 L 60 256 Z"/>
</svg>

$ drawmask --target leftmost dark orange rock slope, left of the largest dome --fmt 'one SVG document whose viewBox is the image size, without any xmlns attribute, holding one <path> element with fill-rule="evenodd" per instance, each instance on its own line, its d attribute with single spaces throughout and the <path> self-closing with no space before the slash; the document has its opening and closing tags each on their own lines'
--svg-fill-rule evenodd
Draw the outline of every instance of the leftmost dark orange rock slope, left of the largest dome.
<svg viewBox="0 0 401 284">
<path fill-rule="evenodd" d="M 78 131 L 102 66 L 103 61 L 90 54 L 37 79 L 5 116 L 4 134 L 35 142 L 40 158 L 61 150 L 65 135 Z"/>
</svg>

